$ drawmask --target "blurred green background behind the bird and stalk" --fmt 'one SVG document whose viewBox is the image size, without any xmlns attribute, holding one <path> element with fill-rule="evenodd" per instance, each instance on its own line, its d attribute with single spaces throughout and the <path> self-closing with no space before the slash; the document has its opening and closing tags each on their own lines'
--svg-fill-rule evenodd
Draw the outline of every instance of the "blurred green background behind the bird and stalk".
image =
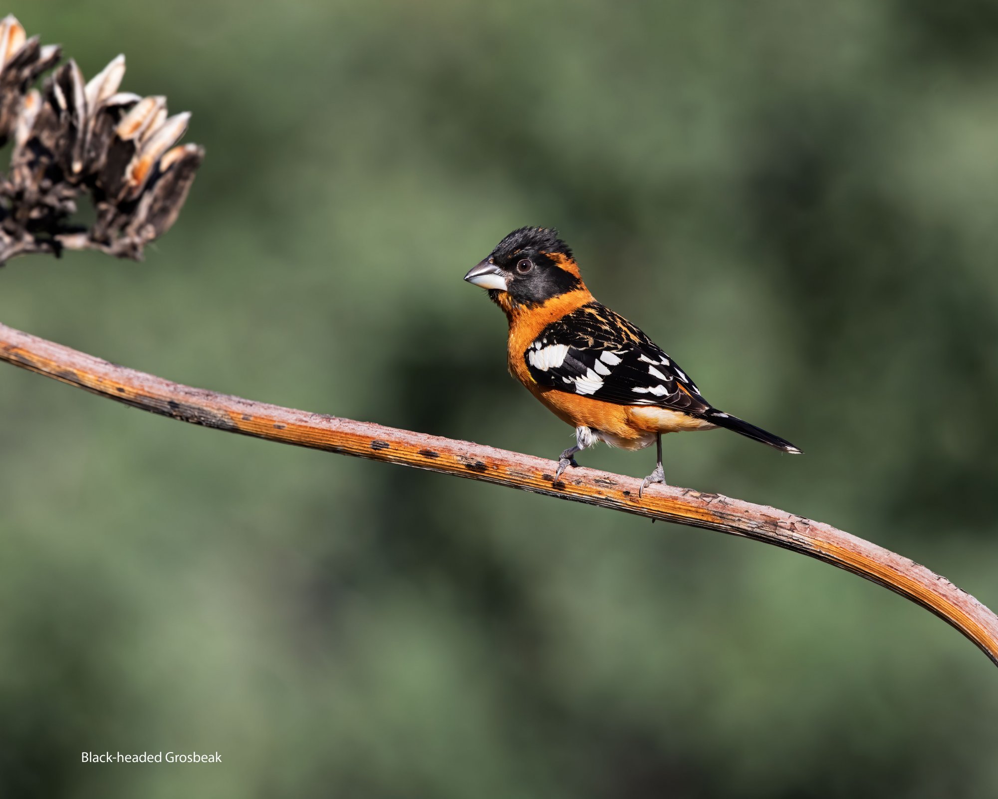
<svg viewBox="0 0 998 799">
<path fill-rule="evenodd" d="M 998 3 L 15 0 L 208 158 L 145 264 L 0 319 L 183 383 L 555 456 L 464 272 L 557 226 L 719 406 L 674 484 L 998 607 Z M 713 532 L 179 424 L 0 366 L 0 794 L 993 797 L 998 682 Z M 651 451 L 581 460 L 643 475 Z M 215 751 L 220 765 L 82 765 Z"/>
</svg>

